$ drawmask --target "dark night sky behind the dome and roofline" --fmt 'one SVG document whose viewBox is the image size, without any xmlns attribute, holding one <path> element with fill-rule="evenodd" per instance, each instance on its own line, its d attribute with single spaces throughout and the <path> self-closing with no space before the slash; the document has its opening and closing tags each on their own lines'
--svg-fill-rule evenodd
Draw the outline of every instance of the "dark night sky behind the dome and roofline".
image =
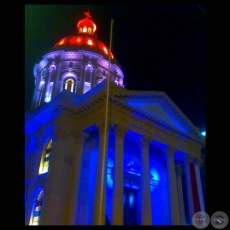
<svg viewBox="0 0 230 230">
<path fill-rule="evenodd" d="M 206 5 L 25 5 L 25 111 L 34 91 L 33 68 L 61 38 L 76 35 L 90 12 L 97 38 L 124 73 L 125 88 L 164 91 L 191 122 L 206 129 Z"/>
</svg>

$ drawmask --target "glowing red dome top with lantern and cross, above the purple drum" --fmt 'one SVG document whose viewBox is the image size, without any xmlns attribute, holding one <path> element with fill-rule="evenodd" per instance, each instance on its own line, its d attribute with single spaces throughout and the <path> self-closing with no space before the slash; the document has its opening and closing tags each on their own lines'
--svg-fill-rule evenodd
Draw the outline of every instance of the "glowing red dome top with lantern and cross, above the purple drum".
<svg viewBox="0 0 230 230">
<path fill-rule="evenodd" d="M 78 35 L 68 36 L 58 41 L 52 51 L 54 50 L 87 50 L 94 53 L 108 57 L 109 48 L 95 36 L 97 29 L 96 24 L 90 19 L 92 18 L 89 12 L 84 12 L 86 18 L 81 19 L 77 23 Z M 113 54 L 111 53 L 111 61 L 114 61 Z"/>
</svg>

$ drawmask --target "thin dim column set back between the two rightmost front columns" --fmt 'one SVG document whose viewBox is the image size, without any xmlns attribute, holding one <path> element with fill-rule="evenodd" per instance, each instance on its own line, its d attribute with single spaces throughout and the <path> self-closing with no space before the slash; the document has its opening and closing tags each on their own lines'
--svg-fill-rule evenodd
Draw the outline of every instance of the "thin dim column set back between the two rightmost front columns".
<svg viewBox="0 0 230 230">
<path fill-rule="evenodd" d="M 177 177 L 178 201 L 179 201 L 179 211 L 180 211 L 180 224 L 186 225 L 183 187 L 182 187 L 182 178 L 181 178 L 182 173 L 183 173 L 182 165 L 177 165 L 176 166 L 176 177 Z"/>
</svg>

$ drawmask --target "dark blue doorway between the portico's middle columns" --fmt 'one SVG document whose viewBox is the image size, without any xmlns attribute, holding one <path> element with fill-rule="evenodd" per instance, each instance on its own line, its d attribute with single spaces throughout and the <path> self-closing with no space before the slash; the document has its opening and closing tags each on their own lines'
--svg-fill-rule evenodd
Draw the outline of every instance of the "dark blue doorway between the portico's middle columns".
<svg viewBox="0 0 230 230">
<path fill-rule="evenodd" d="M 124 188 L 124 225 L 137 225 L 137 193 L 136 189 Z"/>
</svg>

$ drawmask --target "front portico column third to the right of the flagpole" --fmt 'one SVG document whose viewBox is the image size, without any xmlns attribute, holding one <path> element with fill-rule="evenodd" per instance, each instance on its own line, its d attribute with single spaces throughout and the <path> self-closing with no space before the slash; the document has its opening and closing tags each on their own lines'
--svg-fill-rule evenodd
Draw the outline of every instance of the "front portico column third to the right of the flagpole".
<svg viewBox="0 0 230 230">
<path fill-rule="evenodd" d="M 177 182 L 174 165 L 175 151 L 176 149 L 170 147 L 164 149 L 168 173 L 170 222 L 171 225 L 180 225 Z"/>
</svg>

